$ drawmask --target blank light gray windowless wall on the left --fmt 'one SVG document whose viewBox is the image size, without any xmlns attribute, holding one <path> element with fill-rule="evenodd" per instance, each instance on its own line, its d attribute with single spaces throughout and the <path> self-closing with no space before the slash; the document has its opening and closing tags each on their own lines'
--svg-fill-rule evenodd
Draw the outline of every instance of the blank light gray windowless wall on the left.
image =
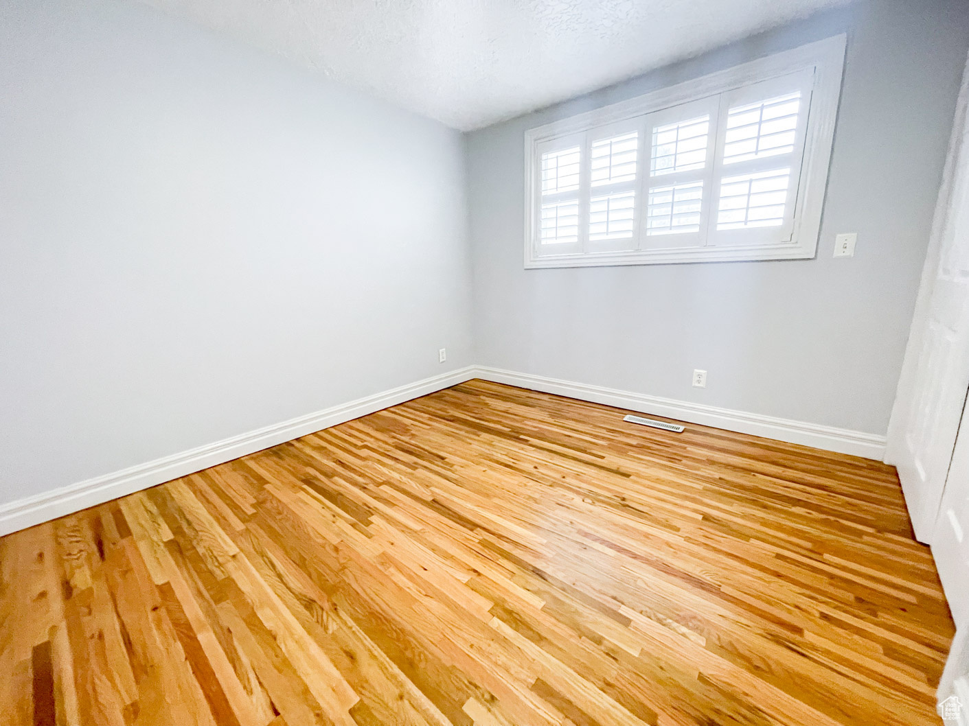
<svg viewBox="0 0 969 726">
<path fill-rule="evenodd" d="M 463 165 L 140 4 L 0 0 L 0 502 L 471 363 Z"/>
</svg>

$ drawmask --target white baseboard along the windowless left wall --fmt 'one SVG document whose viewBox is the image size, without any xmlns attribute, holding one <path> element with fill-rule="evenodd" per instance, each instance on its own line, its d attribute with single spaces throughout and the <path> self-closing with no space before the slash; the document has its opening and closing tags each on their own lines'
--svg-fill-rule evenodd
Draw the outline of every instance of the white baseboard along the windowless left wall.
<svg viewBox="0 0 969 726">
<path fill-rule="evenodd" d="M 0 504 L 0 535 L 33 527 L 110 499 L 124 497 L 194 471 L 224 464 L 240 456 L 252 454 L 284 441 L 298 439 L 314 431 L 425 396 L 471 378 L 475 378 L 475 369 L 469 366 L 442 376 L 424 378 L 415 383 L 360 398 L 348 404 L 298 416 L 247 434 L 155 459 L 146 464 L 86 479 L 34 497 Z"/>
</svg>

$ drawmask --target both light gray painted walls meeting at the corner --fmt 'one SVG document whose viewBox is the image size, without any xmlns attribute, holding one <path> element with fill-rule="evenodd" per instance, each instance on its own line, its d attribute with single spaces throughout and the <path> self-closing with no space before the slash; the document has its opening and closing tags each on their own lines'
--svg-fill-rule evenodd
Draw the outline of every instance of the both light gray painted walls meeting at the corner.
<svg viewBox="0 0 969 726">
<path fill-rule="evenodd" d="M 526 128 L 845 29 L 817 259 L 522 269 Z M 883 433 L 967 43 L 859 2 L 462 141 L 136 3 L 0 0 L 0 502 L 472 362 Z"/>
</svg>

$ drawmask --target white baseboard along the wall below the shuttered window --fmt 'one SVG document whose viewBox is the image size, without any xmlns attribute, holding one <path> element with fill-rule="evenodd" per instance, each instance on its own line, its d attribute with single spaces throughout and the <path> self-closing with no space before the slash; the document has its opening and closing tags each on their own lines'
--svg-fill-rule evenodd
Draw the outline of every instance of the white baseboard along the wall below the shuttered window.
<svg viewBox="0 0 969 726">
<path fill-rule="evenodd" d="M 507 383 L 521 388 L 529 388 L 533 391 L 555 393 L 559 396 L 578 398 L 582 401 L 606 404 L 616 408 L 628 408 L 641 413 L 652 413 L 653 415 L 688 421 L 703 426 L 715 426 L 718 429 L 727 429 L 741 434 L 799 443 L 826 451 L 854 454 L 855 456 L 878 459 L 879 461 L 885 455 L 886 439 L 877 434 L 865 434 L 850 429 L 838 429 L 833 426 L 805 423 L 788 418 L 776 418 L 731 408 L 693 404 L 687 401 L 648 396 L 643 393 L 605 388 L 599 385 L 577 383 L 559 378 L 503 371 L 486 366 L 478 366 L 475 373 L 477 378 L 485 378 L 485 380 L 492 380 L 496 383 Z"/>
</svg>

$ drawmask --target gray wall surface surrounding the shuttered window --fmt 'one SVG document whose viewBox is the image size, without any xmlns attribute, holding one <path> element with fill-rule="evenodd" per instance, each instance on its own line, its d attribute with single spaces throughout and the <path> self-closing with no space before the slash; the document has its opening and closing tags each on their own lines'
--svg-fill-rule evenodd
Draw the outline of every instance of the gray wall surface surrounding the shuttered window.
<svg viewBox="0 0 969 726">
<path fill-rule="evenodd" d="M 816 259 L 522 269 L 526 129 L 841 32 Z M 884 434 L 967 45 L 969 3 L 860 0 L 467 136 L 477 361 Z"/>
</svg>

